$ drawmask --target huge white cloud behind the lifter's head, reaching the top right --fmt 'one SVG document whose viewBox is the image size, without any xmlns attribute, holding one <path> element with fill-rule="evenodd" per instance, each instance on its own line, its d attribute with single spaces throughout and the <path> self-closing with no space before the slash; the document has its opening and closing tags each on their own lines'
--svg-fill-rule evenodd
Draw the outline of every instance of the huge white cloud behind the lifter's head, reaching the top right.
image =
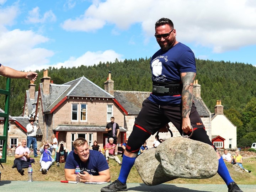
<svg viewBox="0 0 256 192">
<path fill-rule="evenodd" d="M 114 25 L 127 30 L 141 23 L 145 43 L 160 17 L 174 22 L 177 40 L 207 46 L 215 53 L 256 43 L 256 3 L 252 0 L 104 0 L 93 1 L 83 15 L 66 20 L 68 31 L 90 32 Z"/>
</svg>

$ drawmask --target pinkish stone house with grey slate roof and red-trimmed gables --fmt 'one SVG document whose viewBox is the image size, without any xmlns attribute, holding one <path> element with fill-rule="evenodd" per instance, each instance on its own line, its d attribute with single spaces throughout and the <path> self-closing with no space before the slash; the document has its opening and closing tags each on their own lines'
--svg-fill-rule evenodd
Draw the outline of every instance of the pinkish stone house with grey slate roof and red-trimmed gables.
<svg viewBox="0 0 256 192">
<path fill-rule="evenodd" d="M 42 130 L 42 141 L 51 141 L 55 133 L 58 141 L 66 143 L 68 150 L 73 149 L 72 143 L 79 137 L 85 138 L 90 146 L 97 140 L 103 147 L 107 140 L 106 124 L 112 116 L 120 127 L 118 143 L 124 140 L 126 129 L 122 107 L 111 94 L 84 76 L 57 85 L 45 70 L 38 92 L 30 84 L 26 93 L 23 116 L 35 116 Z"/>
</svg>

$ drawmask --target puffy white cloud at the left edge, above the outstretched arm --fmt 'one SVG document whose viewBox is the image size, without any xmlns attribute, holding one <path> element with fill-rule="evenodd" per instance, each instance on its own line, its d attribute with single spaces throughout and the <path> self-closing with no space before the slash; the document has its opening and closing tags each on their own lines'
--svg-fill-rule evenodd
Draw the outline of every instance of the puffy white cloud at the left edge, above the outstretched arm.
<svg viewBox="0 0 256 192">
<path fill-rule="evenodd" d="M 38 48 L 48 38 L 32 31 L 12 30 L 0 34 L 1 63 L 17 70 L 33 70 L 32 65 L 40 66 L 49 63 L 48 57 L 54 53 L 51 50 Z"/>
</svg>

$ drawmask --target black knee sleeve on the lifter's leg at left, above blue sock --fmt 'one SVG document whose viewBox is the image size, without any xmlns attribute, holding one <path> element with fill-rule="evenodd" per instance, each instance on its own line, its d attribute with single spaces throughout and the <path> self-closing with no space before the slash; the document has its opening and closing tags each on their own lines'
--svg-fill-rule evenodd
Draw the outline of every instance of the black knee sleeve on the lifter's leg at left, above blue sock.
<svg viewBox="0 0 256 192">
<path fill-rule="evenodd" d="M 137 126 L 133 126 L 132 133 L 129 136 L 126 150 L 131 153 L 138 153 L 140 147 L 145 143 L 145 141 L 150 137 L 150 134 L 145 132 L 144 130 L 138 128 Z"/>
</svg>

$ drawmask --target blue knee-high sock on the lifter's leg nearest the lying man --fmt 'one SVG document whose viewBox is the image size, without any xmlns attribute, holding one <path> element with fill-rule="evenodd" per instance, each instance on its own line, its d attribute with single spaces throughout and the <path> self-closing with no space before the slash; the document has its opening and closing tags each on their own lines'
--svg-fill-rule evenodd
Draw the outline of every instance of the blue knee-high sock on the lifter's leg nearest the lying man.
<svg viewBox="0 0 256 192">
<path fill-rule="evenodd" d="M 121 181 L 121 183 L 126 183 L 127 177 L 130 173 L 130 170 L 132 169 L 132 166 L 134 165 L 135 159 L 136 158 L 130 158 L 123 155 L 122 167 L 118 177 L 118 180 Z"/>
</svg>

